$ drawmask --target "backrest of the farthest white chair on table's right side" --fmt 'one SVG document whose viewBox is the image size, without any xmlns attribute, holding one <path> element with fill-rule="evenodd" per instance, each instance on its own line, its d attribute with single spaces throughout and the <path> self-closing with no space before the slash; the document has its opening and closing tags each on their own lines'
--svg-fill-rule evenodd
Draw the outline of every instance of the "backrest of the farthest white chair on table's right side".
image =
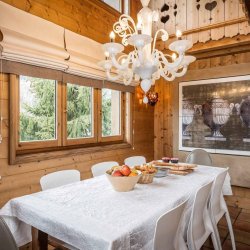
<svg viewBox="0 0 250 250">
<path fill-rule="evenodd" d="M 221 172 L 214 180 L 212 192 L 211 192 L 211 199 L 210 199 L 210 209 L 215 217 L 215 220 L 217 220 L 217 215 L 220 219 L 220 213 L 221 213 L 221 196 L 222 196 L 222 187 L 226 178 L 228 172 L 228 168 L 225 169 L 225 171 Z M 217 223 L 218 221 L 216 221 Z"/>
</svg>

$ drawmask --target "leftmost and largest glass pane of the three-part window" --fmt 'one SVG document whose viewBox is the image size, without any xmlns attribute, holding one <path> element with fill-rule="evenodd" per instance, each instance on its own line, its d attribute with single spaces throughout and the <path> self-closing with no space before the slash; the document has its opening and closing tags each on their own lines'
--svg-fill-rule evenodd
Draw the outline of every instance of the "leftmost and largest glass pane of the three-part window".
<svg viewBox="0 0 250 250">
<path fill-rule="evenodd" d="M 56 81 L 20 76 L 19 140 L 56 139 Z"/>
</svg>

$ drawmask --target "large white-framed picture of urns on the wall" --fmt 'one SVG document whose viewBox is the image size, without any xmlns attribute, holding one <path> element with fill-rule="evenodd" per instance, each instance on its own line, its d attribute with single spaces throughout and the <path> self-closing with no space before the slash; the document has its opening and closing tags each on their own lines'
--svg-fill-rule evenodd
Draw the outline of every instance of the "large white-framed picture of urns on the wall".
<svg viewBox="0 0 250 250">
<path fill-rule="evenodd" d="M 181 82 L 179 150 L 250 155 L 250 75 Z"/>
</svg>

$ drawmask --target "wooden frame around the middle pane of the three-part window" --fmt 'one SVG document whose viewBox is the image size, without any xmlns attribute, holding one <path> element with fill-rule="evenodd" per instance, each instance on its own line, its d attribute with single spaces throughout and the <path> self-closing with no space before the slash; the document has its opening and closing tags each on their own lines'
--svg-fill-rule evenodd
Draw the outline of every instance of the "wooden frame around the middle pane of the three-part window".
<svg viewBox="0 0 250 250">
<path fill-rule="evenodd" d="M 63 140 L 63 145 L 64 146 L 70 146 L 70 145 L 83 145 L 83 144 L 89 144 L 89 143 L 97 143 L 98 142 L 98 131 L 97 131 L 97 124 L 98 124 L 98 120 L 97 120 L 97 98 L 98 98 L 98 90 L 92 88 L 92 122 L 93 122 L 93 127 L 92 127 L 92 132 L 93 132 L 93 136 L 92 137 L 86 137 L 86 138 L 68 138 L 68 132 L 67 132 L 67 84 L 68 83 L 63 83 L 62 86 L 62 113 L 63 113 L 63 122 L 62 122 L 62 126 L 63 126 L 63 136 L 62 136 L 62 140 Z M 71 83 L 74 84 L 74 83 Z M 78 86 L 82 86 L 79 84 L 74 84 L 74 85 L 78 85 Z M 82 86 L 84 87 L 84 86 Z M 87 86 L 88 87 L 88 86 Z"/>
</svg>

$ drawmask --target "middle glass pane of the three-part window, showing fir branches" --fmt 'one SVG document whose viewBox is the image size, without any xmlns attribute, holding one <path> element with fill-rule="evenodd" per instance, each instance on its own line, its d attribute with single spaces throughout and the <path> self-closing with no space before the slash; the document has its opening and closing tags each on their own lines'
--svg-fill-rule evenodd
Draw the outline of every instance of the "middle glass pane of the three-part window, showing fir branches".
<svg viewBox="0 0 250 250">
<path fill-rule="evenodd" d="M 93 88 L 67 84 L 68 139 L 93 137 Z"/>
</svg>

